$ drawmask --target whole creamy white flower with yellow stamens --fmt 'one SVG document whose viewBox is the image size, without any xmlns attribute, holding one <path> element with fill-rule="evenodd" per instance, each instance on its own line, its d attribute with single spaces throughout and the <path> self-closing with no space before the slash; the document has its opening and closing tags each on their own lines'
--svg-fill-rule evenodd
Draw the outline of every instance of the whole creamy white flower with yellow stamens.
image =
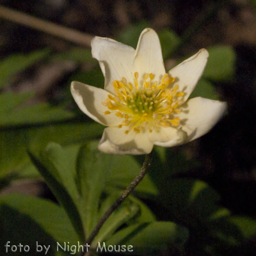
<svg viewBox="0 0 256 256">
<path fill-rule="evenodd" d="M 205 49 L 166 73 L 159 38 L 147 28 L 136 50 L 96 36 L 92 56 L 104 74 L 104 90 L 74 81 L 71 93 L 81 111 L 108 126 L 102 152 L 148 154 L 154 145 L 180 145 L 207 133 L 225 111 L 225 102 L 188 100 L 204 72 Z"/>
</svg>

